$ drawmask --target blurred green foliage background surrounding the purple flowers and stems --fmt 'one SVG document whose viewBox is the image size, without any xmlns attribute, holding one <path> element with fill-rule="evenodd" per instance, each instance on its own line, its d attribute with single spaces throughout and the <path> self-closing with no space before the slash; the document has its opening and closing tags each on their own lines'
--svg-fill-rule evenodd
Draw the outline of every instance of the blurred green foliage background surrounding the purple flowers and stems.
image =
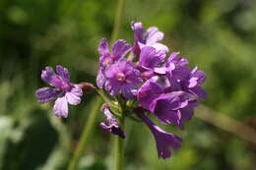
<svg viewBox="0 0 256 170">
<path fill-rule="evenodd" d="M 39 79 L 41 70 L 56 64 L 69 68 L 73 82 L 95 84 L 97 45 L 102 37 L 110 39 L 115 8 L 113 0 L 0 1 L 1 170 L 66 169 L 94 107 L 94 95 L 70 106 L 68 119 L 58 119 L 51 104 L 37 104 L 33 93 L 45 85 Z M 130 43 L 131 21 L 159 27 L 171 51 L 180 51 L 190 67 L 198 65 L 206 72 L 206 106 L 256 129 L 256 1 L 126 0 L 119 38 Z M 96 124 L 101 119 L 98 112 Z M 224 120 L 213 121 L 246 134 Z M 128 122 L 126 170 L 256 167 L 256 144 L 222 126 L 196 117 L 183 132 L 161 127 L 183 138 L 181 149 L 169 159 L 159 159 L 148 128 Z M 78 169 L 111 169 L 111 164 L 110 135 L 95 125 Z"/>
</svg>

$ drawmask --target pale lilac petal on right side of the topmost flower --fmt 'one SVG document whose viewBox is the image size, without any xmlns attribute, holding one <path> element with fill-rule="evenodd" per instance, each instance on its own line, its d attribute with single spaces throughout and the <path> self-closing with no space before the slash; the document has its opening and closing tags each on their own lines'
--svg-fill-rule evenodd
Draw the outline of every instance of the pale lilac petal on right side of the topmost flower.
<svg viewBox="0 0 256 170">
<path fill-rule="evenodd" d="M 159 42 L 163 38 L 163 33 L 159 31 L 159 28 L 151 27 L 145 32 L 146 43 Z"/>
</svg>

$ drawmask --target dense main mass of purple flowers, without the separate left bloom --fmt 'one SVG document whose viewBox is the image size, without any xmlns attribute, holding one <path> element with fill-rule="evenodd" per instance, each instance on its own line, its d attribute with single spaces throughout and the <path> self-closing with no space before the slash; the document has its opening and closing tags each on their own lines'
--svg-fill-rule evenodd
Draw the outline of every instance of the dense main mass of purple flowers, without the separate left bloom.
<svg viewBox="0 0 256 170">
<path fill-rule="evenodd" d="M 198 98 L 206 97 L 201 87 L 206 77 L 197 67 L 189 69 L 188 60 L 180 57 L 178 52 L 166 57 L 169 49 L 160 43 L 163 33 L 158 28 L 144 31 L 141 23 L 132 23 L 131 28 L 134 31 L 133 45 L 117 40 L 110 53 L 106 40 L 101 40 L 96 85 L 112 96 L 135 101 L 128 109 L 149 127 L 157 142 L 159 156 L 166 158 L 171 154 L 170 148 L 179 148 L 182 140 L 161 130 L 145 113 L 155 115 L 163 124 L 174 124 L 183 130 L 183 122 L 192 118 Z M 108 131 L 124 138 L 124 133 L 113 131 L 116 127 L 120 130 L 117 121 L 112 122 Z"/>
</svg>

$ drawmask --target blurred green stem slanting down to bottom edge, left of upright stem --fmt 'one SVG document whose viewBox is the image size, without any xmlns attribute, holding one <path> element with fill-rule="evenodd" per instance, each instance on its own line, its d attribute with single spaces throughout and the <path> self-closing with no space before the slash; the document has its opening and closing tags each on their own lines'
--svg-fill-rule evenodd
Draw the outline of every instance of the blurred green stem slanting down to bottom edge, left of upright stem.
<svg viewBox="0 0 256 170">
<path fill-rule="evenodd" d="M 91 110 L 91 112 L 89 112 L 89 118 L 85 124 L 84 130 L 83 130 L 83 134 L 82 137 L 78 143 L 78 146 L 75 150 L 75 153 L 69 163 L 68 166 L 68 170 L 76 170 L 77 169 L 77 165 L 79 163 L 80 158 L 82 157 L 85 147 L 87 145 L 89 136 L 93 130 L 93 127 L 95 125 L 96 122 L 96 114 L 98 112 L 98 108 L 100 106 L 100 104 L 102 103 L 101 98 L 96 96 L 96 98 L 93 100 L 92 102 L 93 104 L 93 108 Z"/>
</svg>

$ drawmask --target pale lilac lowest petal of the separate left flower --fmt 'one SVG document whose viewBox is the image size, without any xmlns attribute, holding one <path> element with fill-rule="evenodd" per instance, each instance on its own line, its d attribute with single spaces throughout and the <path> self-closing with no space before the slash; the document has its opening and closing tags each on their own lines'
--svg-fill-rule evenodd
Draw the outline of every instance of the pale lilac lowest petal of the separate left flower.
<svg viewBox="0 0 256 170">
<path fill-rule="evenodd" d="M 68 117 L 68 101 L 65 95 L 57 98 L 53 106 L 53 112 L 57 117 Z"/>
</svg>

